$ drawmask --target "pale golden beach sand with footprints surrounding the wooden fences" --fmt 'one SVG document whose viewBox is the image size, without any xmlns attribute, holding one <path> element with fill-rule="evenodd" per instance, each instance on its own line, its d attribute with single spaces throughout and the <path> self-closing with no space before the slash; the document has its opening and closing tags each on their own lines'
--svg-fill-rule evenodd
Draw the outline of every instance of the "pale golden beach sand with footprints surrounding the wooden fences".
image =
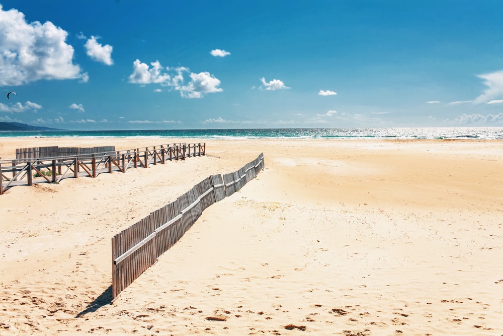
<svg viewBox="0 0 503 336">
<path fill-rule="evenodd" d="M 0 143 L 5 159 L 163 142 Z M 257 179 L 108 304 L 114 234 L 261 152 Z M 211 140 L 207 154 L 0 196 L 0 334 L 503 334 L 503 142 Z"/>
</svg>

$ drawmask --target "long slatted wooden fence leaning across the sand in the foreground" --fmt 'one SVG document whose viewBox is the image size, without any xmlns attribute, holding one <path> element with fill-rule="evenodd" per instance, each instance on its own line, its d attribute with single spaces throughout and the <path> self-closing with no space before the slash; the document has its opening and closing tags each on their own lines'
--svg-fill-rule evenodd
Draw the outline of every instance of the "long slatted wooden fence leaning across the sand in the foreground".
<svg viewBox="0 0 503 336">
<path fill-rule="evenodd" d="M 263 168 L 264 154 L 260 154 L 237 172 L 212 175 L 174 202 L 115 235 L 112 238 L 112 297 L 115 299 L 171 248 L 201 216 L 203 210 L 239 190 Z M 228 181 L 224 182 L 226 179 Z"/>
</svg>

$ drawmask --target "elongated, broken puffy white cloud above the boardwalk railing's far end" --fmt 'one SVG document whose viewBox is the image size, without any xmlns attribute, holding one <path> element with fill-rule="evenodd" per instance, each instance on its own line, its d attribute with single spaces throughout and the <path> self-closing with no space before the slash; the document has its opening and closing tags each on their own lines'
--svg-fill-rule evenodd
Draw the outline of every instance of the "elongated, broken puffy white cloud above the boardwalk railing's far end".
<svg viewBox="0 0 503 336">
<path fill-rule="evenodd" d="M 202 98 L 205 94 L 223 91 L 220 80 L 208 72 L 192 73 L 185 66 L 179 68 L 163 68 L 159 61 L 150 63 L 152 68 L 139 59 L 133 62 L 133 74 L 129 76 L 129 83 L 160 84 L 169 86 L 184 98 Z M 168 73 L 171 72 L 171 73 Z M 186 83 L 185 75 L 189 74 Z"/>
</svg>

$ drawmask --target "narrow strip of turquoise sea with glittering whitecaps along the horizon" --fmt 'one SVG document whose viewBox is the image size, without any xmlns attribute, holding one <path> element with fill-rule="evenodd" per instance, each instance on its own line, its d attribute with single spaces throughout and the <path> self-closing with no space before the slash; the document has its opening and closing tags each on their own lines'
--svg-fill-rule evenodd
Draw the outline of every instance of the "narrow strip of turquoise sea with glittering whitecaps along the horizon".
<svg viewBox="0 0 503 336">
<path fill-rule="evenodd" d="M 161 130 L 0 131 L 0 138 L 153 139 L 503 139 L 503 127 L 249 128 Z M 1 141 L 1 140 L 0 140 Z"/>
</svg>

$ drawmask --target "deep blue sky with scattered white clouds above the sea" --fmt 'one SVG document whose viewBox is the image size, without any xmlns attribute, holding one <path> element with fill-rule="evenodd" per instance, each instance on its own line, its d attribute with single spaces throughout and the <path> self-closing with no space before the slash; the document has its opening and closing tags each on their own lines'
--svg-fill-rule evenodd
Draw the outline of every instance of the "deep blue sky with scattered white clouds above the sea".
<svg viewBox="0 0 503 336">
<path fill-rule="evenodd" d="M 0 5 L 0 121 L 503 126 L 499 0 Z"/>
</svg>

